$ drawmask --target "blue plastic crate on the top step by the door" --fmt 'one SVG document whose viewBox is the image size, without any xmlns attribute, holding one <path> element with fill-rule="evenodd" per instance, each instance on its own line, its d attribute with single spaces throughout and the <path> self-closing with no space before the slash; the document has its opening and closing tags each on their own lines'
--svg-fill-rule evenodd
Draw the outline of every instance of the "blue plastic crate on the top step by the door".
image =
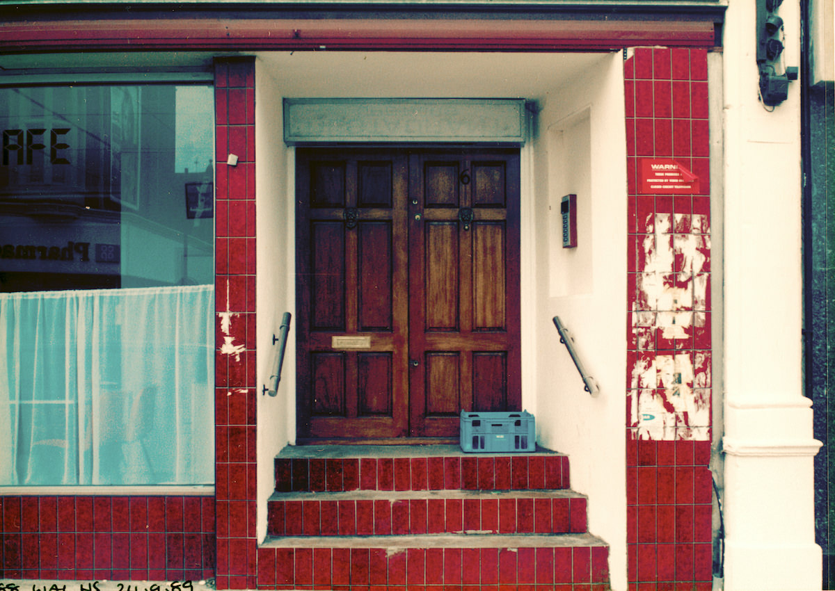
<svg viewBox="0 0 835 591">
<path fill-rule="evenodd" d="M 534 415 L 522 412 L 461 411 L 464 452 L 534 452 Z"/>
</svg>

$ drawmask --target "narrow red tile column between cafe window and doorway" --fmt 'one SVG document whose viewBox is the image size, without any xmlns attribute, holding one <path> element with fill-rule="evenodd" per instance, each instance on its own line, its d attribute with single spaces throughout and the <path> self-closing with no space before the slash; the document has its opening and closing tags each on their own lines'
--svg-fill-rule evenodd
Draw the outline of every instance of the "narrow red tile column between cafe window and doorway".
<svg viewBox="0 0 835 591">
<path fill-rule="evenodd" d="M 217 587 L 256 587 L 255 60 L 215 62 Z"/>
</svg>

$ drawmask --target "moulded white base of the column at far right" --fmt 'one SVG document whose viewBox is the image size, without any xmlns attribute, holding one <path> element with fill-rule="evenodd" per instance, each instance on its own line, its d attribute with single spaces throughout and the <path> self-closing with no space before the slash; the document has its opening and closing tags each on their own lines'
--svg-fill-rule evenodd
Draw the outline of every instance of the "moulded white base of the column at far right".
<svg viewBox="0 0 835 591">
<path fill-rule="evenodd" d="M 728 404 L 726 427 L 725 589 L 820 589 L 811 401 Z"/>
</svg>

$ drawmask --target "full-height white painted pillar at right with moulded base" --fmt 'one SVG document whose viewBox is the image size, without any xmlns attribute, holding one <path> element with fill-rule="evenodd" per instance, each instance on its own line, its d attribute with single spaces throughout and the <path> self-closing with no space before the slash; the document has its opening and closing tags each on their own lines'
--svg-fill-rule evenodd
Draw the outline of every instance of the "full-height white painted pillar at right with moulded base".
<svg viewBox="0 0 835 591">
<path fill-rule="evenodd" d="M 779 9 L 789 66 L 800 60 L 798 7 Z M 800 83 L 773 110 L 760 104 L 755 16 L 755 0 L 734 0 L 724 27 L 725 588 L 819 589 L 819 442 L 801 374 Z"/>
</svg>

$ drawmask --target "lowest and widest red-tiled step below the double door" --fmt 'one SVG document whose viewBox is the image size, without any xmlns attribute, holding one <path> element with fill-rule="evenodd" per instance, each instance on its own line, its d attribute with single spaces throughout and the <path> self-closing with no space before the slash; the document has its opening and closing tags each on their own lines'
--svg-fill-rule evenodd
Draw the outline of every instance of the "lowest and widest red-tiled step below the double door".
<svg viewBox="0 0 835 591">
<path fill-rule="evenodd" d="M 609 588 L 608 559 L 609 548 L 588 533 L 375 536 L 341 538 L 339 543 L 335 538 L 268 538 L 258 548 L 258 583 L 333 591 L 579 588 L 574 584 L 603 591 Z"/>
</svg>

